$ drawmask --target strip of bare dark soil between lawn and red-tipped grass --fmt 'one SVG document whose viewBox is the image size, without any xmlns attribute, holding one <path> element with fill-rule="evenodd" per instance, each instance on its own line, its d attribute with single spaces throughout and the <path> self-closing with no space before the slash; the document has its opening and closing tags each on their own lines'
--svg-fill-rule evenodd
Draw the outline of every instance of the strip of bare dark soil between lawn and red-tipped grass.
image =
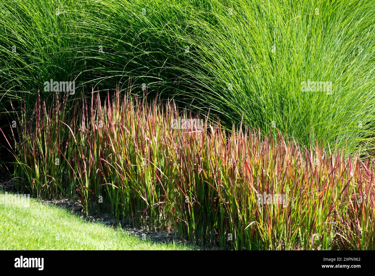
<svg viewBox="0 0 375 276">
<path fill-rule="evenodd" d="M 12 187 L 12 182 L 4 175 L 0 175 L 0 190 L 9 193 L 17 193 Z M 60 208 L 64 208 L 69 210 L 72 214 L 76 214 L 81 218 L 89 221 L 100 223 L 103 225 L 111 226 L 114 228 L 122 228 L 124 231 L 128 232 L 129 234 L 135 235 L 136 237 L 141 238 L 142 240 L 151 240 L 156 243 L 185 243 L 189 245 L 189 242 L 184 240 L 176 231 L 150 231 L 149 229 L 138 229 L 131 225 L 126 225 L 121 221 L 114 220 L 109 214 L 89 214 L 86 215 L 83 211 L 83 207 L 81 206 L 80 201 L 72 201 L 68 198 L 63 199 L 42 199 L 40 202 L 47 204 L 47 205 L 55 205 Z M 205 247 L 202 248 L 205 250 L 219 250 L 219 247 Z"/>
</svg>

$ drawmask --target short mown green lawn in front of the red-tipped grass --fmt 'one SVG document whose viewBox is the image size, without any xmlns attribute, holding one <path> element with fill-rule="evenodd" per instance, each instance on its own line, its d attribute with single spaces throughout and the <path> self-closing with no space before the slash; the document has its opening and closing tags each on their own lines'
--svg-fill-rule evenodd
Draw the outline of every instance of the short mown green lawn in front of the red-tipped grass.
<svg viewBox="0 0 375 276">
<path fill-rule="evenodd" d="M 87 222 L 68 211 L 30 199 L 28 207 L 0 192 L 0 250 L 184 250 L 122 230 Z M 6 202 L 6 204 L 5 204 Z"/>
</svg>

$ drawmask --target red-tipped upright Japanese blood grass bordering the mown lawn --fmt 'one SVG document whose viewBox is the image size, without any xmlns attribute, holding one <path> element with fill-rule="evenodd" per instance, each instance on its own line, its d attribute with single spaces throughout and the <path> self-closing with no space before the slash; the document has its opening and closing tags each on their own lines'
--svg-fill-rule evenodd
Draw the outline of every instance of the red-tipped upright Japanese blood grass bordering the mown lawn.
<svg viewBox="0 0 375 276">
<path fill-rule="evenodd" d="M 174 228 L 198 245 L 375 249 L 374 164 L 358 154 L 248 127 L 227 132 L 208 119 L 202 131 L 175 129 L 178 116 L 199 117 L 118 92 L 49 106 L 38 99 L 30 118 L 20 116 L 15 177 L 34 195 L 77 196 L 86 210 Z M 264 193 L 287 198 L 263 202 Z"/>
</svg>

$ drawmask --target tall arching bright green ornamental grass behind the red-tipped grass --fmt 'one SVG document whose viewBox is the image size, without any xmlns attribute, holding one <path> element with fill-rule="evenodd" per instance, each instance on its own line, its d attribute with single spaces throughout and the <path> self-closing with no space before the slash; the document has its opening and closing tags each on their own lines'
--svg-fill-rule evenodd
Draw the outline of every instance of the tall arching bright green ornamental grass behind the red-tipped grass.
<svg viewBox="0 0 375 276">
<path fill-rule="evenodd" d="M 1 104 L 50 79 L 374 149 L 374 0 L 0 0 Z M 14 48 L 14 47 L 15 48 Z M 149 97 L 150 98 L 150 97 Z M 8 106 L 9 107 L 9 106 Z"/>
</svg>

